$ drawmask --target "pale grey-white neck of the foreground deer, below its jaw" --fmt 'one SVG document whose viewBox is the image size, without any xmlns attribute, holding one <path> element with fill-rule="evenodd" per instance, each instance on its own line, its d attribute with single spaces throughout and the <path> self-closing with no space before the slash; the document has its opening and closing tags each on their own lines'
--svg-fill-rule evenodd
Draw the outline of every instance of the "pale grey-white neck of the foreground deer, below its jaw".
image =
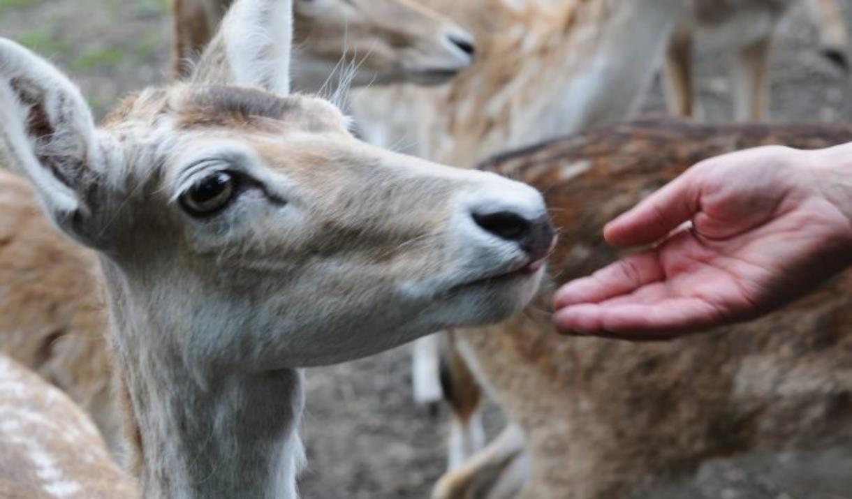
<svg viewBox="0 0 852 499">
<path fill-rule="evenodd" d="M 178 331 L 129 287 L 107 283 L 140 497 L 296 499 L 302 373 L 193 369 L 168 346 Z"/>
</svg>

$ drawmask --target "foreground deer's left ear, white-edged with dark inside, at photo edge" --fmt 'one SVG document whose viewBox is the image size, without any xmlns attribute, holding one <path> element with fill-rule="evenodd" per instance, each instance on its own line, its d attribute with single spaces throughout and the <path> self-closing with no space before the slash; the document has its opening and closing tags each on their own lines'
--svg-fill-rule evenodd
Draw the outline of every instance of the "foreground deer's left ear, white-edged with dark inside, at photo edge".
<svg viewBox="0 0 852 499">
<path fill-rule="evenodd" d="M 91 245 L 83 192 L 101 169 L 92 113 L 68 78 L 5 38 L 0 38 L 0 146 L 55 223 Z"/>
</svg>

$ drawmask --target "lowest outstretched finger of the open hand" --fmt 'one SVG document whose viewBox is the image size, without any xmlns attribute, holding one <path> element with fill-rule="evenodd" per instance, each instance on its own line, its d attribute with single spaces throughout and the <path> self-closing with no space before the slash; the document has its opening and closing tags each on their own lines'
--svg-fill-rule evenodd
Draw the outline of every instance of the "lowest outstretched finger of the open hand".
<svg viewBox="0 0 852 499">
<path fill-rule="evenodd" d="M 683 336 L 728 322 L 710 303 L 698 298 L 677 298 L 655 304 L 584 304 L 554 314 L 562 333 L 618 336 L 636 341 Z"/>
</svg>

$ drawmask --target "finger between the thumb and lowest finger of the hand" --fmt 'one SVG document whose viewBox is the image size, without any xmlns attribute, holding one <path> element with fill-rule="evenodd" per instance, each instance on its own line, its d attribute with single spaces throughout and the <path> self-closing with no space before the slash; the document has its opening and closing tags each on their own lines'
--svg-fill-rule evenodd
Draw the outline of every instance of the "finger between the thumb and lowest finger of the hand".
<svg viewBox="0 0 852 499">
<path fill-rule="evenodd" d="M 571 281 L 554 296 L 556 308 L 578 303 L 595 303 L 613 296 L 625 295 L 644 285 L 664 278 L 656 250 L 630 255 L 603 267 L 587 278 Z"/>
</svg>

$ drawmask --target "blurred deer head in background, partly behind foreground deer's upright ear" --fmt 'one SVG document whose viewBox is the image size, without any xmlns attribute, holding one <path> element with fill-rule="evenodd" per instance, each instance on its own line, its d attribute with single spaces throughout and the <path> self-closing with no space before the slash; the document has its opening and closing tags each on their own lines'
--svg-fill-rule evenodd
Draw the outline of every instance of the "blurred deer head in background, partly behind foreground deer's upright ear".
<svg viewBox="0 0 852 499">
<path fill-rule="evenodd" d="M 186 77 L 233 0 L 172 0 L 172 76 Z M 293 88 L 445 83 L 470 65 L 475 42 L 446 16 L 414 0 L 297 0 Z M 354 68 L 354 69 L 351 69 Z"/>
</svg>

